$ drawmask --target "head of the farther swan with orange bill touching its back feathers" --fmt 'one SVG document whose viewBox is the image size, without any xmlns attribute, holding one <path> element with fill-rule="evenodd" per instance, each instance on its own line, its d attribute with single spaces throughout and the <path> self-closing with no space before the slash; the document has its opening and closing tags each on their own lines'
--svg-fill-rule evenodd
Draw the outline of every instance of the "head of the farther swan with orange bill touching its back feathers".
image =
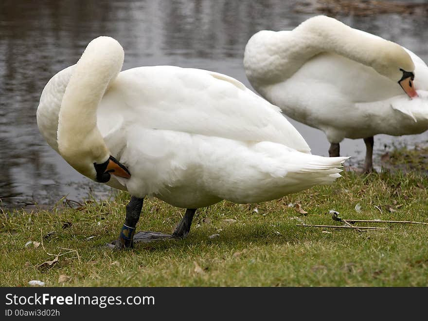
<svg viewBox="0 0 428 321">
<path fill-rule="evenodd" d="M 385 46 L 384 50 L 379 52 L 378 59 L 372 66 L 379 74 L 398 83 L 410 98 L 417 97 L 413 84 L 415 77 L 413 60 L 400 45 L 391 41 L 388 43 L 389 46 Z"/>
</svg>

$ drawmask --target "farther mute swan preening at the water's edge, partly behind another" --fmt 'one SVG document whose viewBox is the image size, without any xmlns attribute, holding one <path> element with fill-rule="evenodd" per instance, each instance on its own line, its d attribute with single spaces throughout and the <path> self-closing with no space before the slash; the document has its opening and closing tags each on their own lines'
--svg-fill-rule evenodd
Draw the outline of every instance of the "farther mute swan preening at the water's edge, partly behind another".
<svg viewBox="0 0 428 321">
<path fill-rule="evenodd" d="M 326 16 L 292 31 L 262 30 L 248 41 L 252 87 L 289 117 L 323 131 L 330 156 L 343 138 L 364 138 L 373 170 L 373 136 L 428 129 L 428 67 L 410 50 Z"/>
</svg>

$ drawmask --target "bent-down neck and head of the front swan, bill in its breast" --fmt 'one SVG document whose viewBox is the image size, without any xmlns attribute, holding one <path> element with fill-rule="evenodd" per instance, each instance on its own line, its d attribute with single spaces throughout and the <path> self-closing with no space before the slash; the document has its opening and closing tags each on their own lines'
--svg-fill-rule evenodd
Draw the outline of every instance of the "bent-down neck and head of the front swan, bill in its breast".
<svg viewBox="0 0 428 321">
<path fill-rule="evenodd" d="M 59 111 L 59 153 L 75 170 L 101 183 L 107 183 L 111 174 L 130 178 L 129 170 L 110 154 L 96 116 L 123 61 L 123 48 L 115 39 L 98 37 L 89 42 L 73 68 Z"/>
</svg>

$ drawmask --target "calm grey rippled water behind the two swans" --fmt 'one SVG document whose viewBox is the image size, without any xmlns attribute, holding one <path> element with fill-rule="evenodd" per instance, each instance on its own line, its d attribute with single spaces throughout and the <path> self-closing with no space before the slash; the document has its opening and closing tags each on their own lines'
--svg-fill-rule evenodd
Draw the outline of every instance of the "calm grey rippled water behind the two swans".
<svg viewBox="0 0 428 321">
<path fill-rule="evenodd" d="M 303 2 L 303 4 L 302 4 Z M 125 49 L 123 69 L 178 65 L 224 73 L 250 87 L 242 65 L 247 40 L 261 29 L 292 29 L 312 17 L 316 1 L 0 1 L 0 198 L 1 207 L 79 200 L 109 188 L 74 171 L 44 141 L 36 108 L 47 81 L 74 64 L 90 40 L 116 38 Z M 419 1 L 421 2 L 421 1 Z M 300 9 L 308 13 L 302 13 Z M 299 10 L 297 10 L 299 9 Z M 428 61 L 426 15 L 337 15 L 343 22 L 398 42 Z M 251 88 L 251 87 L 250 87 Z M 327 156 L 324 134 L 290 120 L 315 154 Z M 385 146 L 426 142 L 420 135 L 375 136 Z M 344 140 L 342 155 L 364 157 L 362 140 Z M 377 157 L 378 158 L 378 157 Z"/>
</svg>

